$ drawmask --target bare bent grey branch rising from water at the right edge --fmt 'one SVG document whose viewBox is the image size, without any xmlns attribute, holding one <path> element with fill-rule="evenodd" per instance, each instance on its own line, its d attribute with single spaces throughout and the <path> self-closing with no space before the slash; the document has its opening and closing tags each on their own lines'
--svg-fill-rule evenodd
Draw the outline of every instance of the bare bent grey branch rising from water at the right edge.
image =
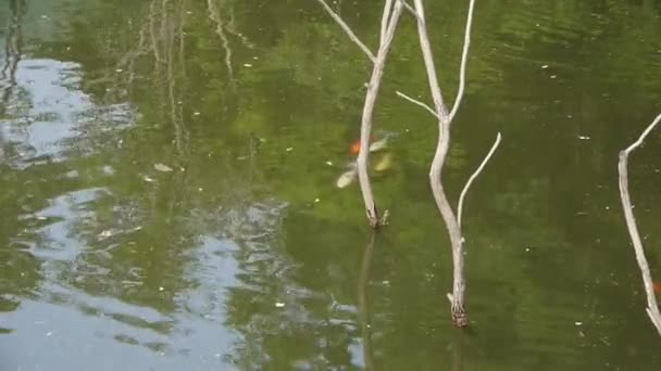
<svg viewBox="0 0 661 371">
<path fill-rule="evenodd" d="M 661 314 L 659 312 L 659 305 L 654 295 L 653 281 L 649 271 L 649 264 L 645 257 L 645 250 L 643 248 L 643 242 L 640 241 L 640 234 L 638 227 L 636 226 L 636 218 L 634 217 L 633 206 L 631 196 L 628 193 L 628 174 L 627 174 L 627 161 L 628 155 L 632 151 L 643 144 L 645 138 L 650 131 L 661 121 L 661 114 L 654 118 L 654 120 L 643 131 L 637 141 L 632 145 L 627 146 L 626 150 L 620 152 L 620 162 L 618 163 L 618 171 L 620 174 L 620 199 L 622 200 L 622 207 L 624 208 L 624 218 L 626 219 L 626 228 L 628 229 L 632 243 L 634 245 L 634 252 L 636 253 L 636 261 L 640 268 L 640 274 L 643 276 L 643 283 L 645 285 L 645 293 L 647 295 L 647 315 L 652 321 L 652 324 L 657 328 L 657 331 L 661 335 Z"/>
</svg>

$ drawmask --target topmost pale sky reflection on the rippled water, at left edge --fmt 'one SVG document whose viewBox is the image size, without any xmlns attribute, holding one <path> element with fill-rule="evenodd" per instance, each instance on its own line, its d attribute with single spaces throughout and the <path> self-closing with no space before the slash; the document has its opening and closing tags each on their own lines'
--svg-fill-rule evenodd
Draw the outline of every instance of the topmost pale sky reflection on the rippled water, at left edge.
<svg viewBox="0 0 661 371">
<path fill-rule="evenodd" d="M 135 123 L 128 105 L 97 106 L 79 90 L 76 63 L 24 60 L 13 74 L 0 119 L 3 157 L 13 166 L 61 162 L 72 152 L 89 154 L 99 136 L 109 140 L 109 132 Z"/>
</svg>

